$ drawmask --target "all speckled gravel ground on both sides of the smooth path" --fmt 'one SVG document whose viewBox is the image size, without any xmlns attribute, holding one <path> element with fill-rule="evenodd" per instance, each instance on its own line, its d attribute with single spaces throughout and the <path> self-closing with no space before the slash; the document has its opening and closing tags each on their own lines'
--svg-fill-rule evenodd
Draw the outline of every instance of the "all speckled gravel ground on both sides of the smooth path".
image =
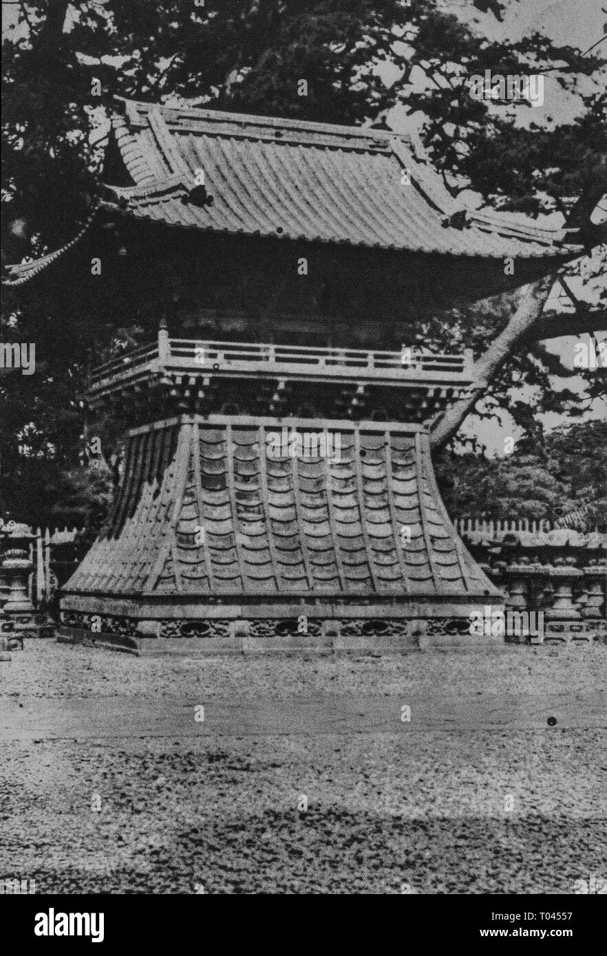
<svg viewBox="0 0 607 956">
<path fill-rule="evenodd" d="M 503 694 L 603 693 L 606 664 L 603 644 L 193 661 L 45 641 L 0 663 L 0 709 L 90 695 L 111 708 L 129 696 L 153 707 L 159 695 L 443 689 L 499 704 Z M 0 876 L 68 893 L 572 892 L 574 880 L 607 876 L 606 778 L 604 728 L 560 724 L 5 739 Z"/>
</svg>

